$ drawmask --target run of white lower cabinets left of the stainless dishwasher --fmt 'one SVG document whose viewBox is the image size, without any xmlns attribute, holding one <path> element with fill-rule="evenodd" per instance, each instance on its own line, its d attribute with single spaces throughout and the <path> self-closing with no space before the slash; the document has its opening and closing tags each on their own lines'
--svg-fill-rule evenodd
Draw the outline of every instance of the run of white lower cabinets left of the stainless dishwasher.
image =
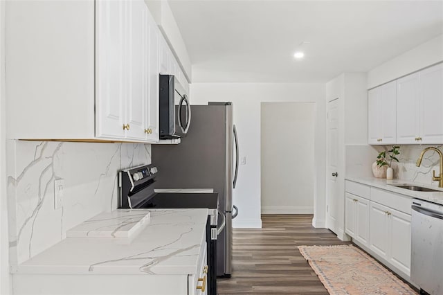
<svg viewBox="0 0 443 295">
<path fill-rule="evenodd" d="M 345 233 L 388 267 L 409 278 L 412 201 L 405 195 L 374 187 L 368 194 L 364 188 L 369 186 L 346 182 Z M 354 195 L 357 192 L 370 199 Z"/>
</svg>

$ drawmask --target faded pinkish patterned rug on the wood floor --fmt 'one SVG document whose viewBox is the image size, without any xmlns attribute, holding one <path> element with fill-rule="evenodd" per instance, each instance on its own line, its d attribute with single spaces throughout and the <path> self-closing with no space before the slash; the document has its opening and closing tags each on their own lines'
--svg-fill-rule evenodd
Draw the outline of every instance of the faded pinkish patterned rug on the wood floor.
<svg viewBox="0 0 443 295">
<path fill-rule="evenodd" d="M 417 294 L 352 245 L 299 246 L 329 294 Z"/>
</svg>

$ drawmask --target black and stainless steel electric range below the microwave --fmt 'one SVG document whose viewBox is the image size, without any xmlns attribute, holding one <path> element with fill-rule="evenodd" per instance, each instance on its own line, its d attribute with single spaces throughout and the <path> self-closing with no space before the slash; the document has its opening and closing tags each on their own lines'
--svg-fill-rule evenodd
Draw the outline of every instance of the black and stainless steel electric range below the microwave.
<svg viewBox="0 0 443 295">
<path fill-rule="evenodd" d="M 156 193 L 157 168 L 138 166 L 118 173 L 118 208 L 208 208 L 206 246 L 208 247 L 208 294 L 217 294 L 217 236 L 224 229 L 218 193 Z M 218 218 L 218 217 L 221 218 Z"/>
</svg>

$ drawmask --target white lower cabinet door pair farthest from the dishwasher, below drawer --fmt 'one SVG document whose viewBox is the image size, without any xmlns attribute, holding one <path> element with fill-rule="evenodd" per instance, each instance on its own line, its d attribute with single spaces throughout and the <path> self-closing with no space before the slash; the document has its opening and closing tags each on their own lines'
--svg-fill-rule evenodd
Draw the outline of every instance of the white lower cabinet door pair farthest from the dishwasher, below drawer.
<svg viewBox="0 0 443 295">
<path fill-rule="evenodd" d="M 370 201 L 350 193 L 345 199 L 345 233 L 368 247 Z"/>
</svg>

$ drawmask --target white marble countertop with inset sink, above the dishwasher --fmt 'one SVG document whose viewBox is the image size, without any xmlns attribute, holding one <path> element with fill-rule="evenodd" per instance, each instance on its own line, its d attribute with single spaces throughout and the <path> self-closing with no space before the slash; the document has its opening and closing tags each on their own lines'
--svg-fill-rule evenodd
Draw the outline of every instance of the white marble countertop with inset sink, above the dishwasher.
<svg viewBox="0 0 443 295">
<path fill-rule="evenodd" d="M 355 181 L 360 184 L 366 184 L 368 186 L 374 186 L 376 188 L 382 188 L 383 190 L 390 190 L 393 193 L 399 193 L 401 195 L 407 195 L 408 197 L 414 197 L 417 199 L 423 199 L 428 202 L 434 202 L 443 205 L 443 188 L 436 186 L 430 186 L 428 184 L 419 184 L 411 181 L 404 181 L 401 179 L 378 179 L 374 177 L 367 178 L 353 178 L 346 177 L 346 180 Z M 434 190 L 440 190 L 438 192 L 418 192 L 415 190 L 407 190 L 406 188 L 397 188 L 401 184 L 410 184 L 413 186 L 423 186 L 425 188 L 432 188 Z"/>
</svg>

